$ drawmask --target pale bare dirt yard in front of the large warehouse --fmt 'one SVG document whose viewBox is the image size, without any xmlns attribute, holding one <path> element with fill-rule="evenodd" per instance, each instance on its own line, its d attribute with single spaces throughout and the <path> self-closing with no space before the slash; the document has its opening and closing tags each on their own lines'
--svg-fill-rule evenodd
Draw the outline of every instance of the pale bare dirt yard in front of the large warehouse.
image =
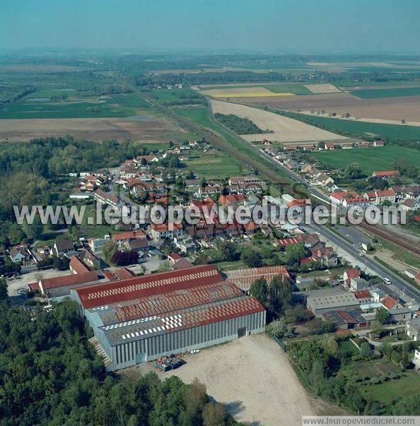
<svg viewBox="0 0 420 426">
<path fill-rule="evenodd" d="M 236 420 L 262 425 L 301 425 L 315 408 L 288 362 L 288 357 L 264 333 L 240 338 L 184 357 L 176 374 L 190 383 L 195 377 L 216 401 L 226 403 Z M 150 365 L 141 368 L 150 369 Z"/>
</svg>

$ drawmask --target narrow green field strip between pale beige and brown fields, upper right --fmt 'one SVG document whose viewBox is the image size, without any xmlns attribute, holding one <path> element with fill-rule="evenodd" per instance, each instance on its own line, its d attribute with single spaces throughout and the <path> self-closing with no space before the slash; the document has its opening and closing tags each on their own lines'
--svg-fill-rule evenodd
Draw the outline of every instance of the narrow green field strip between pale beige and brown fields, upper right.
<svg viewBox="0 0 420 426">
<path fill-rule="evenodd" d="M 349 137 L 380 136 L 383 138 L 389 137 L 420 141 L 420 126 L 355 122 L 344 119 L 315 117 L 312 115 L 298 114 L 297 112 L 285 112 L 284 115 L 320 127 L 321 129 L 344 134 L 344 136 Z"/>
</svg>

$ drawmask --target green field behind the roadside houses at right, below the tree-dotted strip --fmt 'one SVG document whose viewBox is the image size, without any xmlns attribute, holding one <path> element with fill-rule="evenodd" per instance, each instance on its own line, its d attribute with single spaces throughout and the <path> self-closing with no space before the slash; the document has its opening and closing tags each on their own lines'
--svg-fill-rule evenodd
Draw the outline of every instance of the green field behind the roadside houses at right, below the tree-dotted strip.
<svg viewBox="0 0 420 426">
<path fill-rule="evenodd" d="M 414 166 L 420 164 L 420 150 L 391 145 L 382 148 L 317 151 L 310 155 L 337 169 L 344 169 L 351 162 L 358 162 L 363 173 L 368 175 L 375 170 L 392 170 L 399 158 Z"/>
</svg>

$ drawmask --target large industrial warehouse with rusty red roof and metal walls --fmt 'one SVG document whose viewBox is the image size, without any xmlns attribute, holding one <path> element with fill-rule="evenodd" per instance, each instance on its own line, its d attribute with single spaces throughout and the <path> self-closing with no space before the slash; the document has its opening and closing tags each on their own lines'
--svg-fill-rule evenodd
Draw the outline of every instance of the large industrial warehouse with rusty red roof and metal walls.
<svg viewBox="0 0 420 426">
<path fill-rule="evenodd" d="M 264 331 L 255 297 L 215 266 L 156 273 L 71 290 L 95 333 L 107 370 Z"/>
</svg>

